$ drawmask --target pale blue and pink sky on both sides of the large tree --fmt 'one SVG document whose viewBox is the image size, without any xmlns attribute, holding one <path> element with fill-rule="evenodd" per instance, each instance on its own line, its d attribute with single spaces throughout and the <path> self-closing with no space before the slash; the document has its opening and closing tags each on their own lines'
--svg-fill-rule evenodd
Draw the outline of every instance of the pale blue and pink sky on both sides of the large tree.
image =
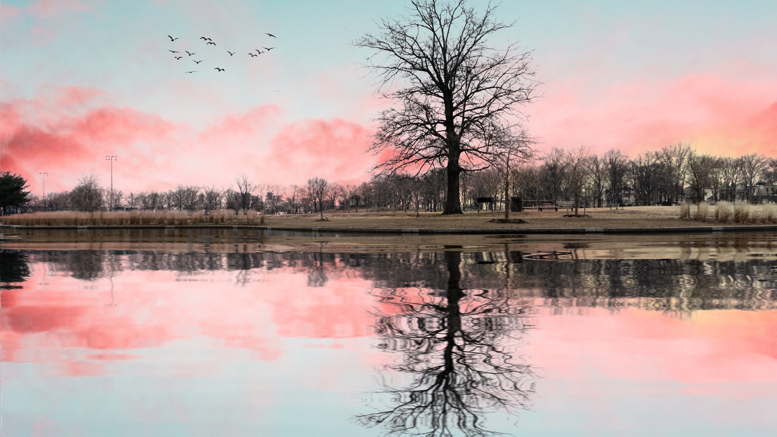
<svg viewBox="0 0 777 437">
<path fill-rule="evenodd" d="M 124 193 L 234 187 L 242 174 L 359 184 L 390 103 L 353 42 L 407 5 L 0 0 L 0 170 L 34 194 L 90 173 L 107 186 L 109 155 Z M 531 51 L 542 82 L 522 109 L 540 153 L 689 142 L 777 156 L 777 2 L 515 1 L 497 12 L 514 26 L 493 46 Z"/>
</svg>

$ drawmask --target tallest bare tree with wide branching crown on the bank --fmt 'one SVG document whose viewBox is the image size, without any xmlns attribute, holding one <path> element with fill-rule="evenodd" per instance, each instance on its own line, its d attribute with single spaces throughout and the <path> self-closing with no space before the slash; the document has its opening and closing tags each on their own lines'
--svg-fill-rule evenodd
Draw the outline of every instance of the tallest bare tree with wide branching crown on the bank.
<svg viewBox="0 0 777 437">
<path fill-rule="evenodd" d="M 411 0 L 409 16 L 382 19 L 380 35 L 367 34 L 358 47 L 375 51 L 368 68 L 381 79 L 382 93 L 396 105 L 378 117 L 371 151 L 392 150 L 376 166 L 390 173 L 417 174 L 444 166 L 448 196 L 443 214 L 461 214 L 459 175 L 487 163 L 483 143 L 495 121 L 521 116 L 536 82 L 529 52 L 517 44 L 497 49 L 488 39 L 510 24 L 497 21 L 495 6 L 479 13 L 466 0 L 442 5 Z M 396 80 L 405 87 L 394 88 Z"/>
</svg>

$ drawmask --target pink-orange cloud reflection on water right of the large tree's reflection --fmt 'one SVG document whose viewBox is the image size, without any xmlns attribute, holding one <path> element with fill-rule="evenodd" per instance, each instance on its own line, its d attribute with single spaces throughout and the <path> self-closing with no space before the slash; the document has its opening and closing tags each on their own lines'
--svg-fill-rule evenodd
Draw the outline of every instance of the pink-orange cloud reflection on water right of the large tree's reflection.
<svg viewBox="0 0 777 437">
<path fill-rule="evenodd" d="M 691 391 L 714 390 L 705 384 L 777 382 L 773 310 L 700 311 L 680 320 L 640 309 L 597 308 L 583 316 L 542 316 L 537 324 L 528 346 L 533 364 L 572 381 L 604 374 L 674 380 Z M 577 390 L 595 393 L 596 387 Z"/>
</svg>

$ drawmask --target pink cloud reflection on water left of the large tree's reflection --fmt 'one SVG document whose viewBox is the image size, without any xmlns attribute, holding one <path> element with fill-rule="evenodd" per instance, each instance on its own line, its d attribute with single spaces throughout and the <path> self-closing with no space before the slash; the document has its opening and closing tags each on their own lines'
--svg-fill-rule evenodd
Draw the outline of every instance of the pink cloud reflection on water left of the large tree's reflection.
<svg viewBox="0 0 777 437">
<path fill-rule="evenodd" d="M 258 360 L 282 353 L 280 337 L 344 338 L 369 334 L 368 283 L 357 278 L 305 286 L 305 274 L 236 271 L 179 276 L 134 271 L 79 281 L 45 278 L 40 264 L 23 289 L 2 292 L 2 360 L 45 362 L 64 375 L 99 374 L 99 362 L 135 358 L 133 350 L 204 337 L 212 347 L 242 348 Z M 176 278 L 179 281 L 176 281 Z M 315 347 L 315 342 L 308 347 Z M 333 345 L 336 347 L 336 344 Z M 330 346 L 332 347 L 332 346 Z"/>
</svg>

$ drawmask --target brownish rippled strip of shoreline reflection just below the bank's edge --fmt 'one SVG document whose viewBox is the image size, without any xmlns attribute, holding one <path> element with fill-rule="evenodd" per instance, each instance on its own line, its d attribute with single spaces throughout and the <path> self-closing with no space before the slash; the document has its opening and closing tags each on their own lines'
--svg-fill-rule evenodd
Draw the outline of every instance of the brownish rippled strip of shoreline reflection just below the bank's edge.
<svg viewBox="0 0 777 437">
<path fill-rule="evenodd" d="M 448 250 L 567 251 L 574 259 L 777 260 L 777 233 L 728 232 L 680 235 L 453 235 L 453 236 L 271 236 L 256 229 L 33 230 L 16 250 L 155 250 L 168 253 L 253 253 L 318 251 L 325 253 L 402 253 Z M 235 250 L 235 243 L 239 243 Z"/>
</svg>

